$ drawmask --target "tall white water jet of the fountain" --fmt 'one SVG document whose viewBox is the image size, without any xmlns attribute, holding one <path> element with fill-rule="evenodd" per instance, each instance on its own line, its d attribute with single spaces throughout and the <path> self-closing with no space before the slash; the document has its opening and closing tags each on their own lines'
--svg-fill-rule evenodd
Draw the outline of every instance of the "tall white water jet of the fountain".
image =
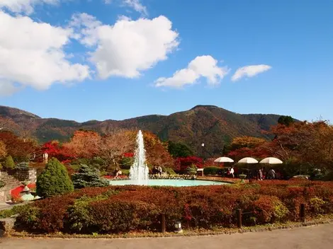
<svg viewBox="0 0 333 249">
<path fill-rule="evenodd" d="M 148 185 L 149 168 L 146 165 L 145 145 L 141 130 L 137 133 L 134 163 L 130 167 L 130 180 L 134 185 Z"/>
</svg>

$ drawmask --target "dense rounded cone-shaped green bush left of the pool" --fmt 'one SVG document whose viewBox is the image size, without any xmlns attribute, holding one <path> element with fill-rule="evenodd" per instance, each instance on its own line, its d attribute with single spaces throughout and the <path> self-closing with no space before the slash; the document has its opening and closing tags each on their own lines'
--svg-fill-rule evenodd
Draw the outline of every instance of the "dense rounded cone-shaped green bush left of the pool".
<svg viewBox="0 0 333 249">
<path fill-rule="evenodd" d="M 56 158 L 51 158 L 37 178 L 37 195 L 40 197 L 52 197 L 72 192 L 73 190 L 73 183 L 69 178 L 66 167 Z"/>
</svg>

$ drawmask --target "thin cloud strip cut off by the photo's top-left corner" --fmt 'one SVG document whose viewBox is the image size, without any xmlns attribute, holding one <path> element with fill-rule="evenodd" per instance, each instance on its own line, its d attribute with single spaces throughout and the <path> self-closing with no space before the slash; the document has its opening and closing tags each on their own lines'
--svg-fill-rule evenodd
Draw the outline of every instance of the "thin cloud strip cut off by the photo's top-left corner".
<svg viewBox="0 0 333 249">
<path fill-rule="evenodd" d="M 33 13 L 36 4 L 58 4 L 60 0 L 0 0 L 0 8 L 7 8 L 14 13 Z"/>
</svg>

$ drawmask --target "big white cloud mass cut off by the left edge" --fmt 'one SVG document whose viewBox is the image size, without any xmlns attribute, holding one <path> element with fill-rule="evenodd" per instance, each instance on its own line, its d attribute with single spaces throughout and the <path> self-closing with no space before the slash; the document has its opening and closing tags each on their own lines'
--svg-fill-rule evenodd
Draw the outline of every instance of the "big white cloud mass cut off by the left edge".
<svg viewBox="0 0 333 249">
<path fill-rule="evenodd" d="M 72 30 L 2 11 L 0 23 L 0 81 L 4 93 L 14 91 L 14 84 L 45 90 L 53 83 L 89 77 L 89 66 L 72 64 L 64 52 Z"/>
</svg>

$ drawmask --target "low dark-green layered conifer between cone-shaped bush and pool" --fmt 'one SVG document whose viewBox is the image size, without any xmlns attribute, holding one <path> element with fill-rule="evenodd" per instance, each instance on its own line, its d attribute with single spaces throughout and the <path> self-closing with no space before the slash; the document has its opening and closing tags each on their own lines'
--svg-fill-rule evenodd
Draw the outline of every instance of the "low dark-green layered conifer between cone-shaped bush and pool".
<svg viewBox="0 0 333 249">
<path fill-rule="evenodd" d="M 100 178 L 98 169 L 85 164 L 81 164 L 79 173 L 72 175 L 72 180 L 75 188 L 106 187 L 109 185 L 108 180 Z"/>
</svg>

